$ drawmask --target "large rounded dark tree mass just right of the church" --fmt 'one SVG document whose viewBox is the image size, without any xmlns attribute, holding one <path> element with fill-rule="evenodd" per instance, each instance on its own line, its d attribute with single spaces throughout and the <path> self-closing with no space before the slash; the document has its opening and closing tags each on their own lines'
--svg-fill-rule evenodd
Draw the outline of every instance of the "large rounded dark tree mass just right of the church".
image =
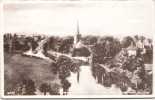
<svg viewBox="0 0 155 100">
<path fill-rule="evenodd" d="M 107 58 L 113 58 L 121 50 L 120 42 L 113 37 L 99 38 L 96 45 L 92 47 L 93 62 L 106 63 Z"/>
</svg>

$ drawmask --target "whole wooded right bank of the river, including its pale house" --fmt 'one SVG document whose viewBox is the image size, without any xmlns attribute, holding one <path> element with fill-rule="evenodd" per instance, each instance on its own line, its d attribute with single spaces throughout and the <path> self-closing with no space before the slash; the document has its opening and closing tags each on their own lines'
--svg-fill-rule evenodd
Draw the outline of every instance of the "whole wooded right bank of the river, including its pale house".
<svg viewBox="0 0 155 100">
<path fill-rule="evenodd" d="M 92 48 L 92 72 L 98 83 L 107 87 L 116 84 L 122 91 L 132 87 L 136 92 L 152 93 L 151 74 L 145 69 L 145 64 L 152 64 L 151 39 L 127 36 L 119 41 L 105 37 Z M 103 66 L 111 71 L 106 71 Z"/>
</svg>

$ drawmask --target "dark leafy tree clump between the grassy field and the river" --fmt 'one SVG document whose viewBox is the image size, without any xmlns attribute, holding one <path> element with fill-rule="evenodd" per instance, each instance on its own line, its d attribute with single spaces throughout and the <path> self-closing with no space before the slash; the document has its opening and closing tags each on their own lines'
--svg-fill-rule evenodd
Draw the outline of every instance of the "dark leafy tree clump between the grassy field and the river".
<svg viewBox="0 0 155 100">
<path fill-rule="evenodd" d="M 66 56 L 60 56 L 55 63 L 51 64 L 51 70 L 54 74 L 59 76 L 61 80 L 61 87 L 63 88 L 63 94 L 67 95 L 71 83 L 67 80 L 72 73 L 79 73 L 81 62 L 70 59 Z"/>
</svg>

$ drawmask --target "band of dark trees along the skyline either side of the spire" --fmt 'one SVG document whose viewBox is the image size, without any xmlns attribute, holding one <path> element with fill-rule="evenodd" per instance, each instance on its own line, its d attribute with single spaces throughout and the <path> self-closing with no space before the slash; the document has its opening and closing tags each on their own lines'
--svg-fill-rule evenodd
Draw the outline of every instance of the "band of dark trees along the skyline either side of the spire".
<svg viewBox="0 0 155 100">
<path fill-rule="evenodd" d="M 37 37 L 37 39 L 36 39 Z M 35 49 L 38 46 L 38 42 L 43 39 L 40 35 L 38 36 L 22 36 L 19 37 L 18 35 L 14 34 L 5 34 L 4 35 L 4 49 L 5 51 L 26 51 L 30 49 L 30 43 L 32 49 Z M 126 36 L 122 40 L 118 40 L 112 36 L 84 36 L 81 38 L 81 41 L 84 45 L 93 45 L 93 53 L 95 55 L 107 56 L 107 57 L 114 57 L 121 48 L 127 48 L 131 43 L 136 45 L 138 41 L 142 43 L 144 40 L 148 40 L 150 44 L 152 44 L 152 40 L 145 38 L 144 36 Z M 66 36 L 66 37 L 56 37 L 51 36 L 47 41 L 44 49 L 46 50 L 54 50 L 57 52 L 62 53 L 70 53 L 73 48 L 74 37 L 73 36 Z M 153 48 L 149 48 L 145 46 L 147 49 L 150 49 L 149 53 L 151 53 Z M 85 48 L 83 48 L 85 49 Z M 148 54 L 147 54 L 148 55 Z M 151 55 L 151 54 L 150 54 Z M 150 56 L 149 55 L 149 56 Z M 101 60 L 100 57 L 98 60 Z"/>
</svg>

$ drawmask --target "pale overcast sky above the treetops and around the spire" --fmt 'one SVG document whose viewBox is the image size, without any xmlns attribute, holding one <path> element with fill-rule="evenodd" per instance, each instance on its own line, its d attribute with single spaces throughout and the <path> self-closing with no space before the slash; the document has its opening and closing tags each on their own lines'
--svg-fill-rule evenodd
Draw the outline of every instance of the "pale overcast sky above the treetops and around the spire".
<svg viewBox="0 0 155 100">
<path fill-rule="evenodd" d="M 71 35 L 77 20 L 83 35 L 133 35 L 155 33 L 152 0 L 102 3 L 4 4 L 4 31 Z"/>
</svg>

